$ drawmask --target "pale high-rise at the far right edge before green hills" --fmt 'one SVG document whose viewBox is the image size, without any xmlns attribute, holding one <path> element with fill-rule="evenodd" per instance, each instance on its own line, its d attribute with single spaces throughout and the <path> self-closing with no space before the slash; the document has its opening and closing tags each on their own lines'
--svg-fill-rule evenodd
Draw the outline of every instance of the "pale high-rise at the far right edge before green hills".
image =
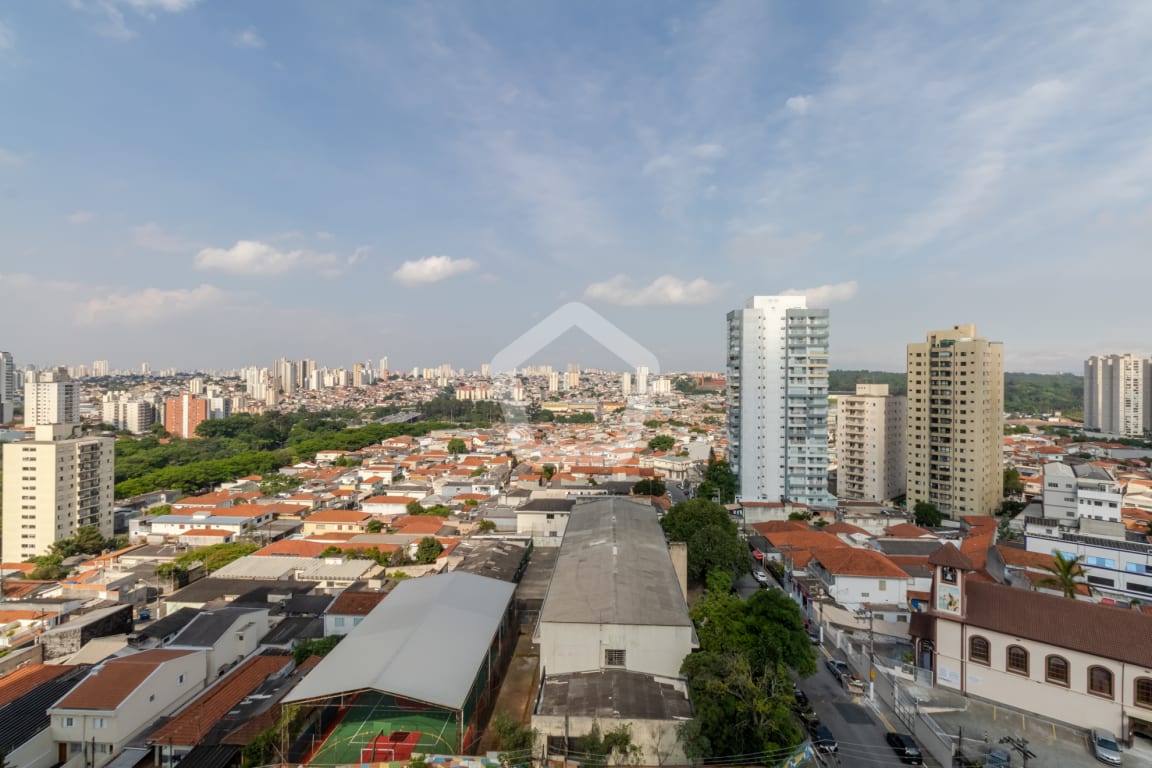
<svg viewBox="0 0 1152 768">
<path fill-rule="evenodd" d="M 1152 431 L 1152 360 L 1093 356 L 1084 363 L 1084 427 L 1126 438 Z"/>
</svg>

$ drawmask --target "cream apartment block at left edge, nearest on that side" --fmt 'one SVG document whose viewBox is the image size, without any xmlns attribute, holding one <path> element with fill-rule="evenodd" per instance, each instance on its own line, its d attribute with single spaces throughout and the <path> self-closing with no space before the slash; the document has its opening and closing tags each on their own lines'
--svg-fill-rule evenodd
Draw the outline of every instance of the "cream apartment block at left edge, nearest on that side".
<svg viewBox="0 0 1152 768">
<path fill-rule="evenodd" d="M 47 554 L 84 525 L 112 535 L 115 440 L 75 432 L 73 424 L 43 425 L 35 440 L 5 443 L 5 562 Z"/>
</svg>

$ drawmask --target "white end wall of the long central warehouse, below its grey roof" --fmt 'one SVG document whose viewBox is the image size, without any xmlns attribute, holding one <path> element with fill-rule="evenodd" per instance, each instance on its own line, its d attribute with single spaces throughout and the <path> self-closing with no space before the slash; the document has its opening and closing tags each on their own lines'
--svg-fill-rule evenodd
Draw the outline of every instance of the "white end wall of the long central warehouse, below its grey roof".
<svg viewBox="0 0 1152 768">
<path fill-rule="evenodd" d="M 624 652 L 624 669 L 679 677 L 692 651 L 690 626 L 540 624 L 540 666 L 548 675 L 604 668 L 606 649 Z"/>
</svg>

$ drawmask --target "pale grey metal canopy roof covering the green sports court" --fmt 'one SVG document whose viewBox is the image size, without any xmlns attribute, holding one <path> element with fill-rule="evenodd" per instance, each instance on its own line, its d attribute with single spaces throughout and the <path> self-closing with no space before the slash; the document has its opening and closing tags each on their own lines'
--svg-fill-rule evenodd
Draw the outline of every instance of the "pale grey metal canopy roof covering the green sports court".
<svg viewBox="0 0 1152 768">
<path fill-rule="evenodd" d="M 460 709 L 515 588 L 461 572 L 401 581 L 285 702 L 372 689 Z"/>
</svg>

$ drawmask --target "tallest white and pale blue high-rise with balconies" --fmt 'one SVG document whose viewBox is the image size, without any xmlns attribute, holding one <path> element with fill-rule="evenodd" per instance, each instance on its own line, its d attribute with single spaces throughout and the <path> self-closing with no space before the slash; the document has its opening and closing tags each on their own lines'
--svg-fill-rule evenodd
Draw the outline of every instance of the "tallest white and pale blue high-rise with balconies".
<svg viewBox="0 0 1152 768">
<path fill-rule="evenodd" d="M 728 313 L 728 456 L 742 501 L 831 505 L 828 311 L 753 296 Z"/>
</svg>

